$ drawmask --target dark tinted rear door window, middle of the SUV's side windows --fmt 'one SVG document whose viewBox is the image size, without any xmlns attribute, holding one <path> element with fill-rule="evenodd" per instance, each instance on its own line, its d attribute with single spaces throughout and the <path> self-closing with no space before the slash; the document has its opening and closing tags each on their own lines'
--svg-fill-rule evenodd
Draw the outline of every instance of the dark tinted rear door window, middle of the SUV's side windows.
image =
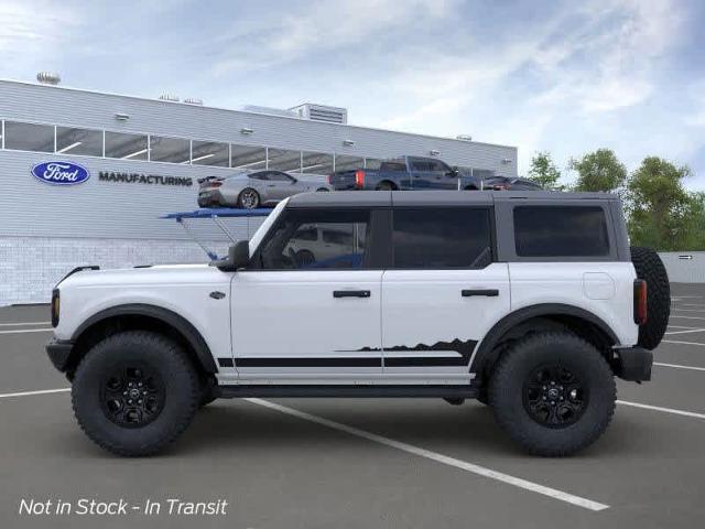
<svg viewBox="0 0 705 529">
<path fill-rule="evenodd" d="M 486 207 L 394 209 L 394 268 L 485 268 L 492 262 Z"/>
</svg>

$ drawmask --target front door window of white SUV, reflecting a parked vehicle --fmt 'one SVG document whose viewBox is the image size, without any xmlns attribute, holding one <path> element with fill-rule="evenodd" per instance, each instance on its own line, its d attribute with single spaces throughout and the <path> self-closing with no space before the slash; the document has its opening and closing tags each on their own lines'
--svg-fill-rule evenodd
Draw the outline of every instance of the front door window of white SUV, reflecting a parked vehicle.
<svg viewBox="0 0 705 529">
<path fill-rule="evenodd" d="M 369 210 L 291 209 L 256 262 L 263 270 L 362 269 L 369 229 Z"/>
</svg>

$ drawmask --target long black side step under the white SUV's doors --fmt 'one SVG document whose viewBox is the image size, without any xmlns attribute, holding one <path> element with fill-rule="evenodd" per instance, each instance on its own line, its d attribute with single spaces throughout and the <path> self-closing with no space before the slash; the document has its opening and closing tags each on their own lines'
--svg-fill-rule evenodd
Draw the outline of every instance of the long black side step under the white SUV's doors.
<svg viewBox="0 0 705 529">
<path fill-rule="evenodd" d="M 475 399 L 478 390 L 471 386 L 219 386 L 218 397 L 343 397 L 343 398 L 442 398 Z"/>
</svg>

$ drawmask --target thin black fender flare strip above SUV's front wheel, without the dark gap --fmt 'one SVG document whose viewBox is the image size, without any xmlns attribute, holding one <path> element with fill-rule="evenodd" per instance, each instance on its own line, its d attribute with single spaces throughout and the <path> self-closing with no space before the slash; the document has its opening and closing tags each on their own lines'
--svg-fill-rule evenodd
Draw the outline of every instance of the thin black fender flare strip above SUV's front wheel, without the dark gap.
<svg viewBox="0 0 705 529">
<path fill-rule="evenodd" d="M 193 324 L 188 322 L 188 320 L 162 306 L 150 305 L 145 303 L 128 303 L 124 305 L 111 306 L 104 311 L 97 312 L 96 314 L 84 321 L 74 332 L 72 341 L 76 343 L 76 341 L 78 341 L 78 338 L 88 328 L 93 327 L 97 323 L 116 316 L 148 316 L 161 321 L 162 323 L 174 328 L 178 334 L 183 336 L 183 338 L 196 353 L 196 357 L 198 358 L 200 366 L 206 373 L 218 373 L 218 367 L 213 359 L 210 348 L 208 347 L 208 344 L 206 344 L 206 341 L 203 338 L 198 330 L 196 330 L 196 327 L 194 327 Z"/>
</svg>

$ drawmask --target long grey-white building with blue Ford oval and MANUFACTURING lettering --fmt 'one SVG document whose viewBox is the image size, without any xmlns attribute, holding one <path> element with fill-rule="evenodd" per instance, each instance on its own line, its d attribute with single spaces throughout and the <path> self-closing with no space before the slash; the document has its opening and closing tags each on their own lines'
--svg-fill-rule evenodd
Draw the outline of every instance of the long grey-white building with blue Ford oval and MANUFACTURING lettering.
<svg viewBox="0 0 705 529">
<path fill-rule="evenodd" d="M 47 302 L 77 266 L 205 261 L 176 223 L 160 218 L 195 209 L 204 176 L 245 169 L 325 175 L 400 154 L 517 175 L 514 147 L 357 127 L 347 123 L 346 109 L 311 104 L 229 110 L 173 96 L 0 80 L 0 305 Z M 37 168 L 70 174 L 51 183 Z M 227 245 L 204 223 L 191 225 L 196 236 Z M 238 238 L 259 224 L 230 223 Z"/>
</svg>

